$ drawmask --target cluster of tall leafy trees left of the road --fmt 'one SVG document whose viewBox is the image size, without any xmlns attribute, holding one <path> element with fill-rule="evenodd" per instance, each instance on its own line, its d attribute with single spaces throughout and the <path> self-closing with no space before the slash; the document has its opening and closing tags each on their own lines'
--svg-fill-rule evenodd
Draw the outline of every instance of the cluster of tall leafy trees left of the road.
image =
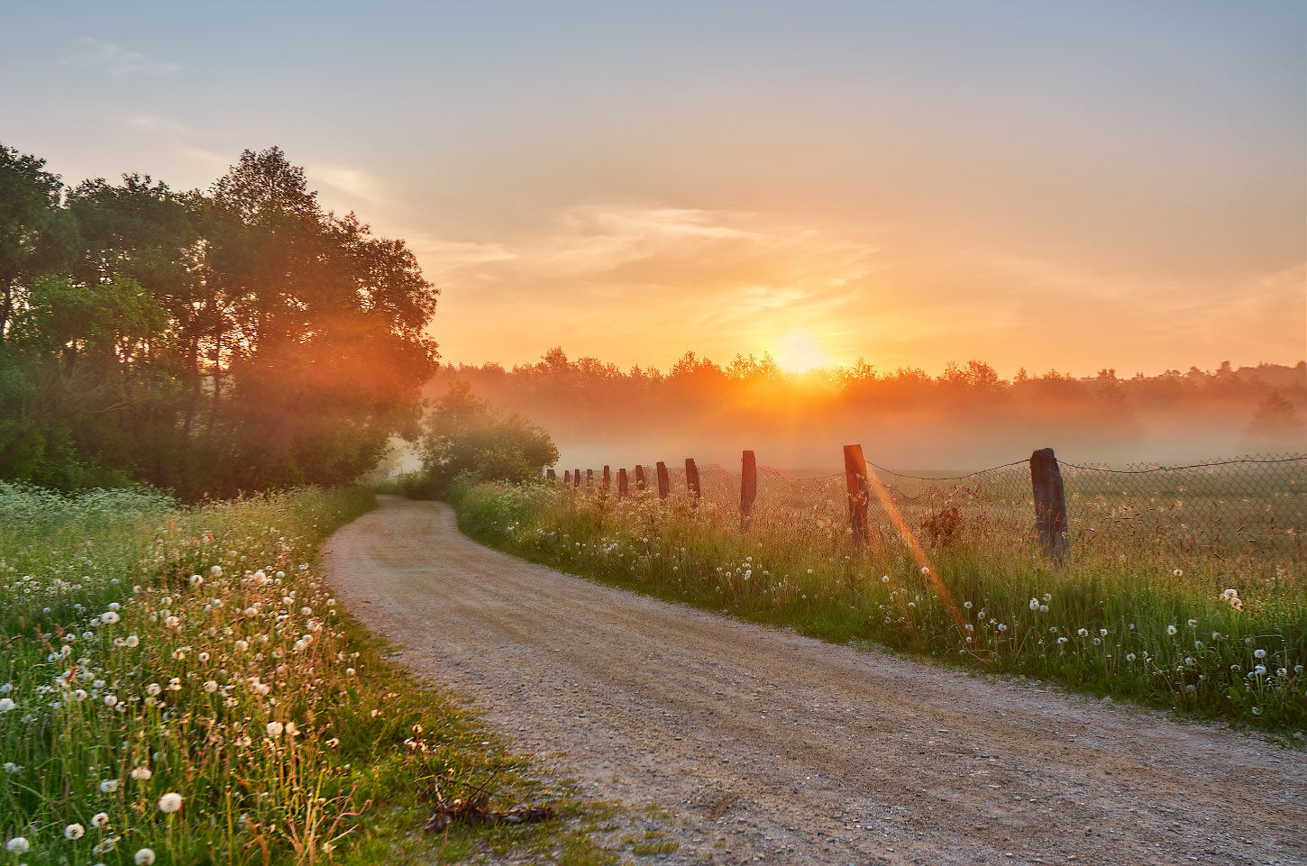
<svg viewBox="0 0 1307 866">
<path fill-rule="evenodd" d="M 208 191 L 65 187 L 0 145 L 0 478 L 183 498 L 322 483 L 414 435 L 437 290 L 278 148 Z"/>
</svg>

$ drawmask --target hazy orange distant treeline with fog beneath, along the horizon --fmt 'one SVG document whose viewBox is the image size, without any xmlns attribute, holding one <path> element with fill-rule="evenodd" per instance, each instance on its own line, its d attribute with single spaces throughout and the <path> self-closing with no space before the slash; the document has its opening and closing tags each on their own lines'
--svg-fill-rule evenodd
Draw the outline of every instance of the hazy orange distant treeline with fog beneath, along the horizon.
<svg viewBox="0 0 1307 866">
<path fill-rule="evenodd" d="M 544 426 L 558 469 L 657 460 L 733 468 L 741 449 L 797 473 L 842 466 L 842 445 L 901 470 L 974 470 L 1052 447 L 1072 462 L 1179 462 L 1302 452 L 1307 364 L 1166 371 L 1125 377 L 1057 372 L 997 376 L 983 362 L 880 372 L 867 366 L 791 374 L 769 358 L 718 364 L 686 354 L 668 372 L 620 371 L 561 349 L 505 370 L 443 366 L 454 381 Z"/>
</svg>

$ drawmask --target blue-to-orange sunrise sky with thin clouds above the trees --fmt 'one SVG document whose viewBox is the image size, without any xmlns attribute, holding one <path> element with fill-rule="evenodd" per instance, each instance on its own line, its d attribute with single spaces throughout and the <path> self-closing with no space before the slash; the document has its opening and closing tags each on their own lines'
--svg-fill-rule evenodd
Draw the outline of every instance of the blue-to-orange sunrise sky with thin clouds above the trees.
<svg viewBox="0 0 1307 866">
<path fill-rule="evenodd" d="M 0 144 L 207 188 L 281 146 L 446 362 L 1307 357 L 1307 4 L 10 4 Z M 18 72 L 13 72 L 18 71 Z"/>
</svg>

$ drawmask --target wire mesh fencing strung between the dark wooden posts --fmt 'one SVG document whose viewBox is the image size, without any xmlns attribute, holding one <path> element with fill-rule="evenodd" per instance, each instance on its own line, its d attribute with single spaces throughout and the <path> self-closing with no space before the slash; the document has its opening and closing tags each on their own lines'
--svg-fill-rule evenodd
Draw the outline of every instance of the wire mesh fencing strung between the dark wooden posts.
<svg viewBox="0 0 1307 866">
<path fill-rule="evenodd" d="M 1040 550 L 1029 460 L 966 474 L 868 468 L 886 492 L 885 500 L 870 498 L 872 533 L 895 533 L 893 508 L 936 549 L 968 545 L 1005 556 Z M 1213 579 L 1238 573 L 1243 580 L 1307 581 L 1307 456 L 1125 468 L 1059 461 L 1059 468 L 1073 564 L 1111 560 L 1150 571 L 1197 569 Z M 656 495 L 656 466 L 643 472 L 644 491 L 630 474 L 633 494 Z M 667 472 L 670 494 L 684 498 L 685 468 L 669 465 Z M 704 519 L 738 526 L 741 472 L 719 465 L 698 472 Z M 846 491 L 842 472 L 797 475 L 758 466 L 752 525 L 766 532 L 802 522 L 827 536 L 844 532 Z"/>
</svg>

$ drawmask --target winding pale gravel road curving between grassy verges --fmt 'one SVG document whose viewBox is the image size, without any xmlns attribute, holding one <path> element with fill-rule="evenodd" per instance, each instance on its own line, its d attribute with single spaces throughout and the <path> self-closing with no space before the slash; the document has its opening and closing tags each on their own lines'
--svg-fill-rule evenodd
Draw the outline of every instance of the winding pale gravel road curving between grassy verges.
<svg viewBox="0 0 1307 866">
<path fill-rule="evenodd" d="M 667 862 L 1304 863 L 1307 755 L 597 586 L 383 498 L 337 596 Z"/>
</svg>

